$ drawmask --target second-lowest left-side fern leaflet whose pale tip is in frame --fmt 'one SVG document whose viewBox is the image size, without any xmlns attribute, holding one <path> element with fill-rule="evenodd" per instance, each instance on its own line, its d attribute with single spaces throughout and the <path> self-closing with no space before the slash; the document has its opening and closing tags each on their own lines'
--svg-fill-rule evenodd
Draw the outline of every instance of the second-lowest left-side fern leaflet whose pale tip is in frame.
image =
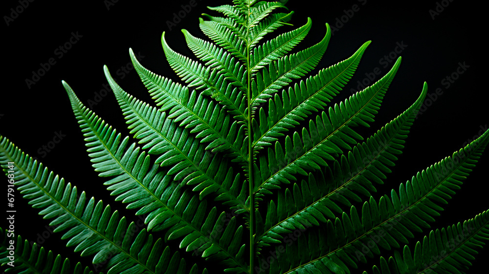
<svg viewBox="0 0 489 274">
<path fill-rule="evenodd" d="M 104 71 L 111 85 L 117 101 L 126 116 L 127 124 L 134 137 L 141 139 L 140 144 L 146 145 L 143 149 L 150 148 L 149 154 L 160 155 L 156 163 L 160 166 L 171 167 L 168 175 L 173 175 L 174 180 L 181 181 L 184 185 L 195 185 L 193 191 L 200 191 L 200 199 L 217 192 L 220 200 L 227 205 L 244 209 L 244 185 L 240 181 L 233 182 L 229 174 L 232 170 L 227 168 L 227 163 L 217 154 L 204 150 L 199 141 L 190 132 L 177 126 L 171 119 L 167 119 L 165 112 L 159 112 L 156 108 L 143 103 L 126 93 L 112 79 L 107 67 Z M 243 146 L 234 145 L 237 148 Z M 224 179 L 226 179 L 224 181 Z M 229 184 L 238 186 L 230 190 Z M 236 196 L 236 193 L 240 193 Z"/>
</svg>

